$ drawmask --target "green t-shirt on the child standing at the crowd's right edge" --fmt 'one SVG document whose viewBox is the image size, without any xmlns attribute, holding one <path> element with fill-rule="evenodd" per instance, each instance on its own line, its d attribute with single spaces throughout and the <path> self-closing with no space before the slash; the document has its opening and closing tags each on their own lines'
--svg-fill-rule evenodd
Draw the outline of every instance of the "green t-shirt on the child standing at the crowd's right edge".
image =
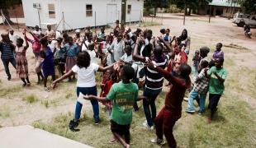
<svg viewBox="0 0 256 148">
<path fill-rule="evenodd" d="M 224 83 L 218 80 L 217 76 L 213 74 L 214 72 L 216 72 L 222 79 L 225 79 L 227 72 L 224 68 L 217 69 L 216 67 L 211 67 L 207 72 L 208 76 L 210 76 L 209 93 L 222 95 L 225 89 Z"/>
</svg>

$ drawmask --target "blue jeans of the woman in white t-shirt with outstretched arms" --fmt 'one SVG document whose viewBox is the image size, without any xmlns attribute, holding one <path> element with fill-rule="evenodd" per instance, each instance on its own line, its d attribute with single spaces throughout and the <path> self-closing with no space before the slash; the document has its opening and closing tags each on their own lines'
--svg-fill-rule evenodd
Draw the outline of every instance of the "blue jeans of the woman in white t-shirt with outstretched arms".
<svg viewBox="0 0 256 148">
<path fill-rule="evenodd" d="M 93 87 L 77 87 L 77 95 L 79 95 L 80 92 L 83 95 L 95 95 L 95 96 L 97 96 L 97 87 L 96 86 L 93 86 Z M 99 117 L 99 106 L 98 106 L 97 100 L 92 99 L 91 104 L 92 104 L 94 122 L 98 123 L 99 120 L 100 120 L 100 117 Z M 83 107 L 83 104 L 80 104 L 79 102 L 77 102 L 76 107 L 75 107 L 75 114 L 74 114 L 74 118 L 77 119 L 77 120 L 80 118 L 82 107 Z"/>
</svg>

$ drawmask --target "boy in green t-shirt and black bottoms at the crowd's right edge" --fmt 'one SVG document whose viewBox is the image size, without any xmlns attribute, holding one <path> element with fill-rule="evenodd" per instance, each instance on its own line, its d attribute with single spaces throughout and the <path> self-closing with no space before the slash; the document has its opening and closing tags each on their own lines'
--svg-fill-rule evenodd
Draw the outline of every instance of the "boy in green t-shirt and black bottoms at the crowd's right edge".
<svg viewBox="0 0 256 148">
<path fill-rule="evenodd" d="M 217 110 L 218 102 L 225 88 L 224 81 L 227 76 L 227 72 L 223 68 L 223 62 L 224 58 L 217 58 L 215 67 L 211 67 L 211 69 L 207 71 L 207 76 L 210 77 L 208 109 L 211 109 L 211 116 L 208 118 L 208 123 L 211 123 L 211 119 Z"/>
</svg>

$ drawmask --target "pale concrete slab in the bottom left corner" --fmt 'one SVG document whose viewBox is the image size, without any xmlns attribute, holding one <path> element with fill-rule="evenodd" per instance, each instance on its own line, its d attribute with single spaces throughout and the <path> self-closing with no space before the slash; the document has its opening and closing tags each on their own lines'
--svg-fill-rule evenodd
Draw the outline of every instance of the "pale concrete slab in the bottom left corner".
<svg viewBox="0 0 256 148">
<path fill-rule="evenodd" d="M 91 148 L 29 125 L 0 128 L 1 148 Z"/>
</svg>

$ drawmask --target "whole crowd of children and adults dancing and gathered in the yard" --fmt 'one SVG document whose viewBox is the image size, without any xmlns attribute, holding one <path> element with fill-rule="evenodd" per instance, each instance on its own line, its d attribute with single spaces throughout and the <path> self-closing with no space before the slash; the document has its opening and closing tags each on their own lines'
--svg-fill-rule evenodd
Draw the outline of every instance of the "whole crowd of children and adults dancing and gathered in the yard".
<svg viewBox="0 0 256 148">
<path fill-rule="evenodd" d="M 92 33 L 87 27 L 84 35 L 81 30 L 75 30 L 72 37 L 67 33 L 60 35 L 50 25 L 47 28 L 45 35 L 38 26 L 34 31 L 24 30 L 24 39 L 17 37 L 15 41 L 9 38 L 11 31 L 1 35 L 1 58 L 8 80 L 11 80 L 8 68 L 11 62 L 23 86 L 31 84 L 26 59 L 26 50 L 31 43 L 36 57 L 38 84 L 44 81 L 45 90 L 50 91 L 47 87 L 48 76 L 52 76 L 52 87 L 55 88 L 60 81 L 73 81 L 77 75 L 77 96 L 82 95 L 83 99 L 91 101 L 94 123 L 100 123 L 98 102 L 102 102 L 111 114 L 111 143 L 120 141 L 123 146 L 130 147 L 132 111 L 139 110 L 136 102 L 142 100 L 146 118 L 142 125 L 156 131 L 156 138 L 151 141 L 163 145 L 165 136 L 168 146 L 176 147 L 173 126 L 182 116 L 182 102 L 187 90 L 190 90 L 190 94 L 186 111 L 196 112 L 193 104 L 196 99 L 199 114 L 205 110 L 209 91 L 211 117 L 208 122 L 211 123 L 227 75 L 223 68 L 222 44 L 216 45 L 212 58 L 207 57 L 210 52 L 207 47 L 195 52 L 192 58 L 194 80 L 191 81 L 192 67 L 187 64 L 191 40 L 186 29 L 179 37 L 171 37 L 170 29 L 161 29 L 162 35 L 153 36 L 152 30 L 121 30 L 119 21 L 116 21 L 110 34 L 105 33 L 104 27 L 98 34 Z M 27 37 L 27 33 L 31 34 L 32 39 Z M 58 79 L 55 79 L 55 67 L 58 67 L 60 74 Z M 97 72 L 102 72 L 100 95 L 97 95 Z M 164 87 L 164 78 L 168 81 L 169 91 L 164 107 L 157 115 L 155 100 Z M 139 89 L 143 90 L 141 96 L 138 95 Z M 74 118 L 69 123 L 73 132 L 79 131 L 77 127 L 82 107 L 83 103 L 77 101 Z"/>
</svg>

